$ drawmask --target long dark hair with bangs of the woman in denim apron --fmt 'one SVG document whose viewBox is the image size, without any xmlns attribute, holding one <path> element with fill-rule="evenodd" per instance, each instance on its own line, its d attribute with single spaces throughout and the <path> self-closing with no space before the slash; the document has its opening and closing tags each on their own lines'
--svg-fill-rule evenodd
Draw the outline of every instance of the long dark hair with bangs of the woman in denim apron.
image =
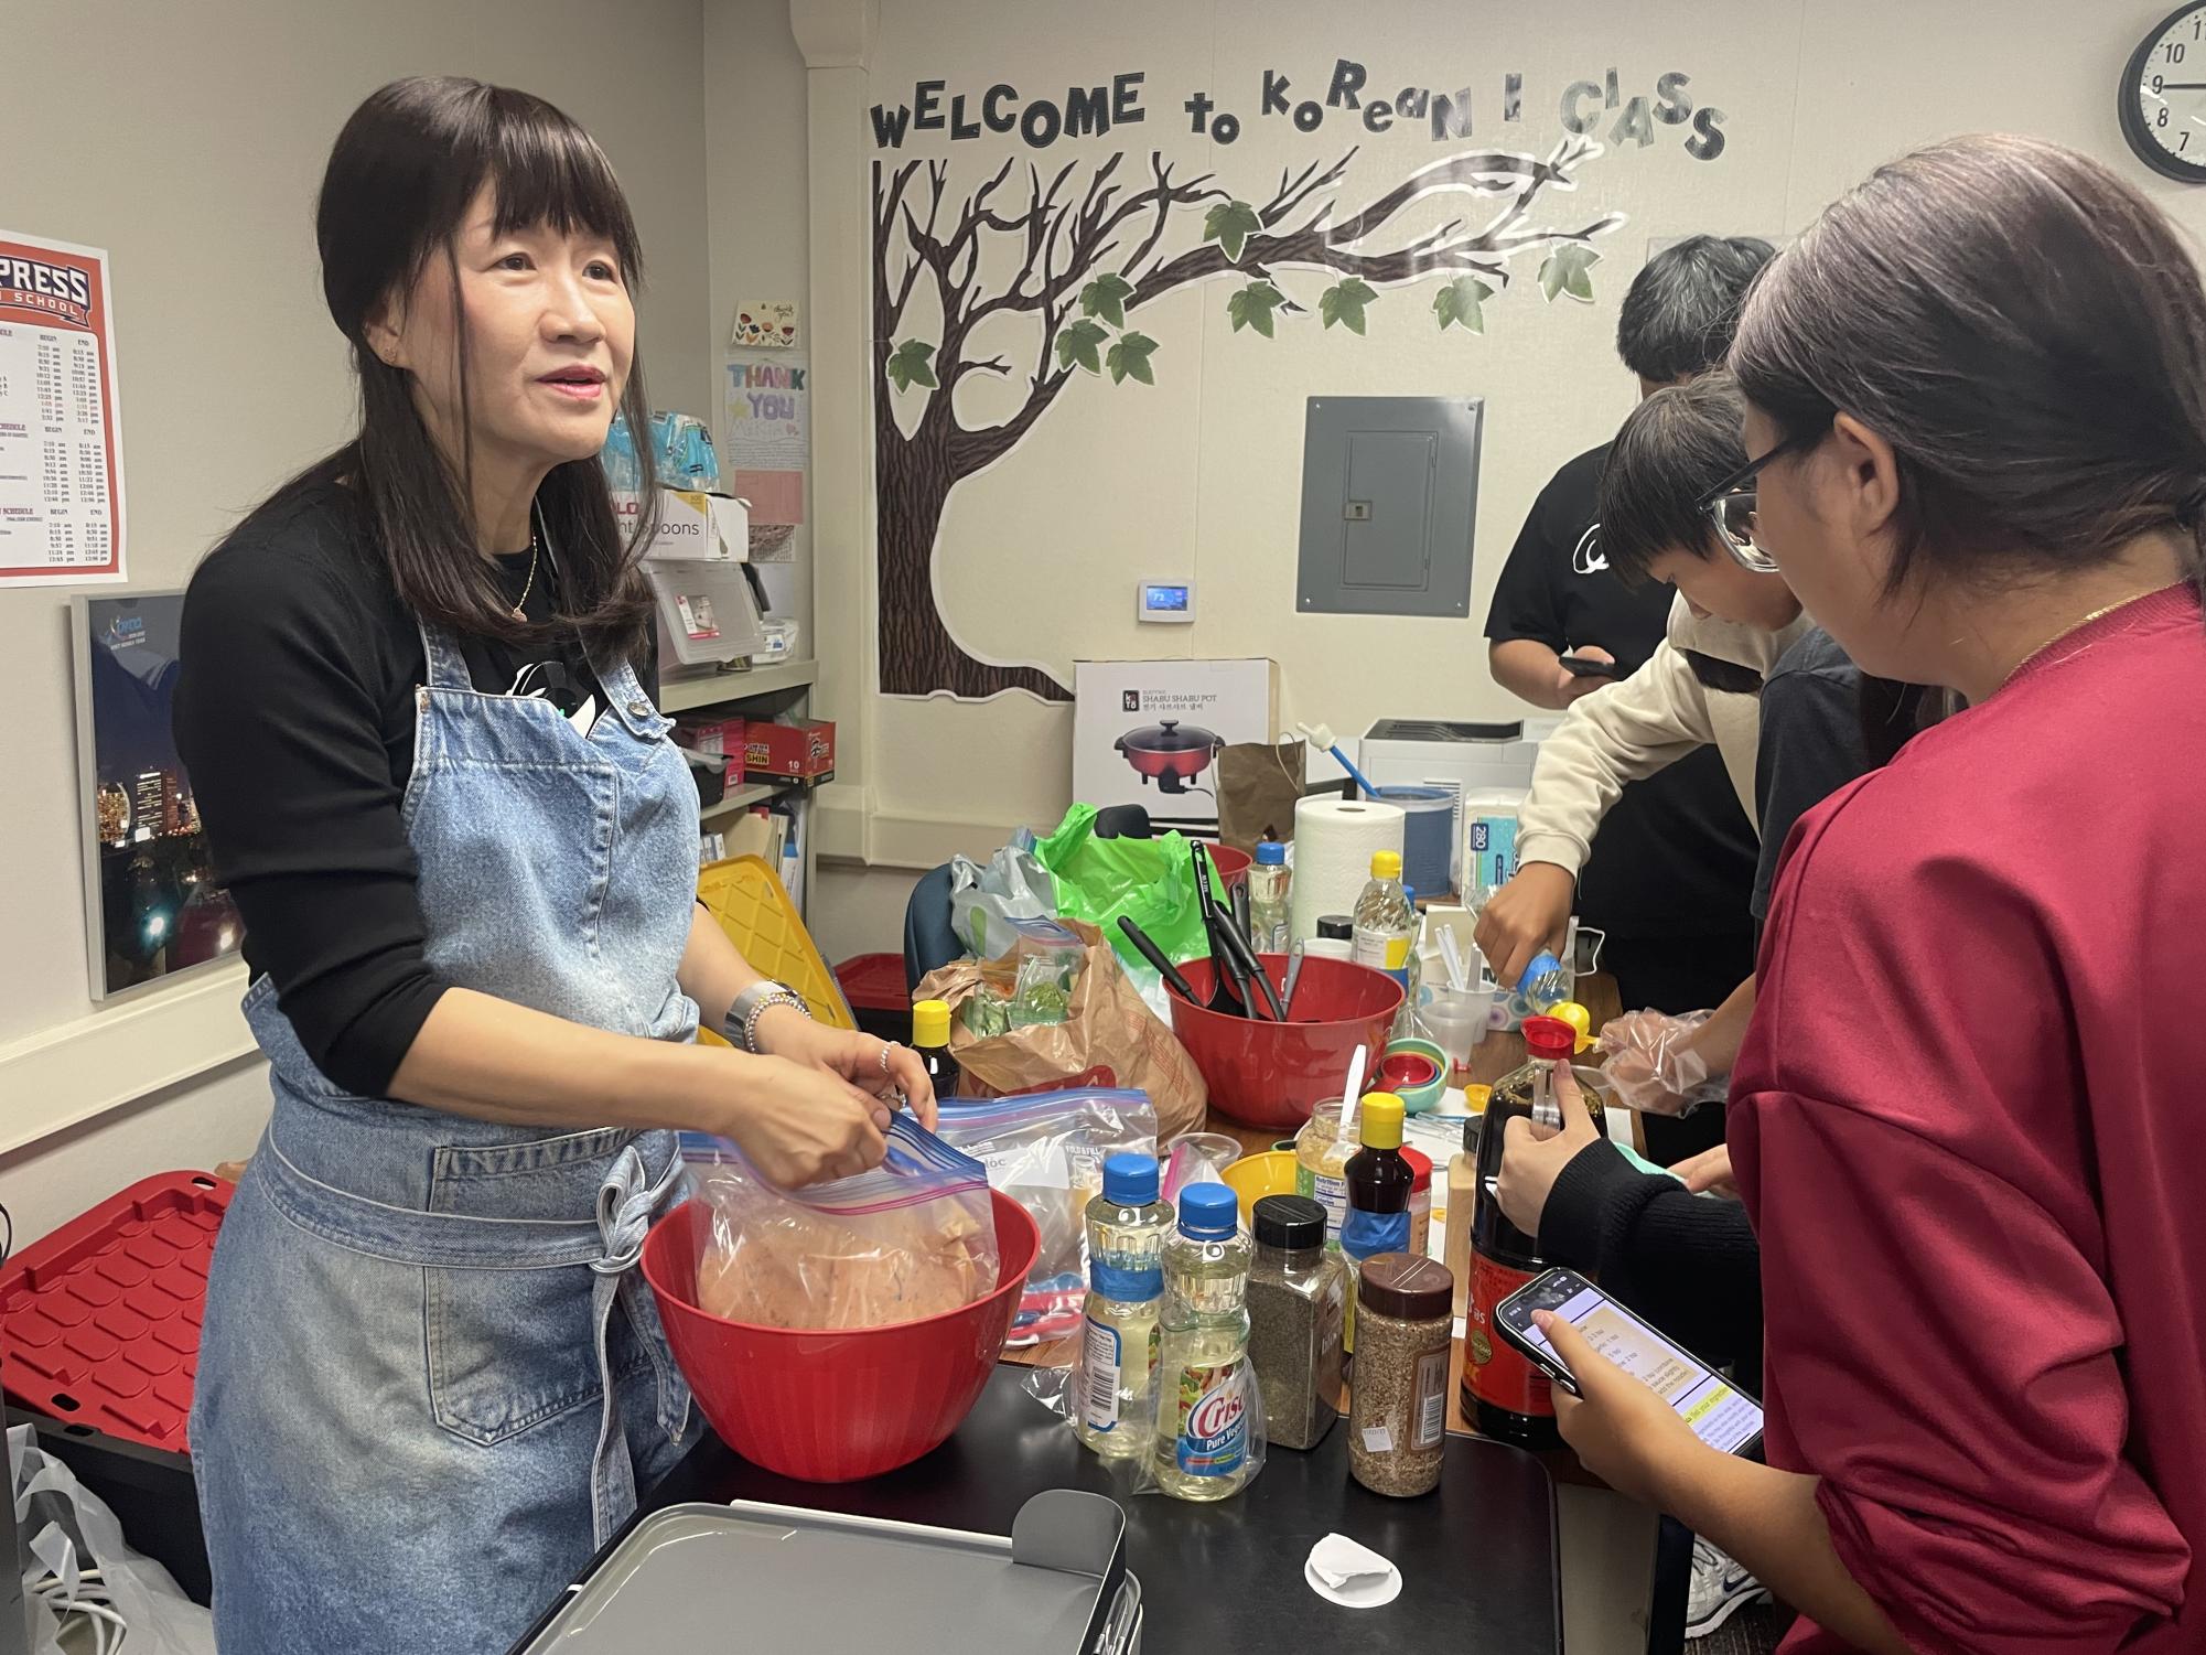
<svg viewBox="0 0 2206 1655">
<path fill-rule="evenodd" d="M 390 82 L 344 124 L 315 203 L 322 296 L 360 375 L 360 435 L 282 492 L 349 483 L 408 609 L 457 631 L 532 642 L 545 629 L 514 620 L 492 565 L 476 556 L 468 421 L 461 452 L 446 459 L 415 410 L 413 375 L 386 364 L 366 340 L 379 307 L 408 293 L 432 258 L 448 260 L 465 413 L 468 318 L 452 236 L 485 183 L 496 194 L 499 234 L 549 223 L 560 234 L 604 236 L 635 291 L 635 218 L 589 132 L 545 99 L 505 86 L 457 75 Z M 554 466 L 536 490 L 558 556 L 560 613 L 552 627 L 578 629 L 591 655 L 607 662 L 633 658 L 651 618 L 651 589 L 638 569 L 653 532 L 649 408 L 638 357 L 620 410 L 638 433 L 646 510 L 627 534 L 596 457 Z"/>
</svg>

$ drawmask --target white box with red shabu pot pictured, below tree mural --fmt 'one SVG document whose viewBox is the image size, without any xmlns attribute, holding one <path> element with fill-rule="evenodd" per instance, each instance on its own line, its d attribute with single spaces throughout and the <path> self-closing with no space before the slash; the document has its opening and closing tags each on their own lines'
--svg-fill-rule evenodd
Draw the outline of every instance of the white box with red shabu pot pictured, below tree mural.
<svg viewBox="0 0 2206 1655">
<path fill-rule="evenodd" d="M 1141 805 L 1158 830 L 1218 836 L 1218 748 L 1279 733 L 1271 660 L 1083 660 L 1072 666 L 1072 797 Z"/>
</svg>

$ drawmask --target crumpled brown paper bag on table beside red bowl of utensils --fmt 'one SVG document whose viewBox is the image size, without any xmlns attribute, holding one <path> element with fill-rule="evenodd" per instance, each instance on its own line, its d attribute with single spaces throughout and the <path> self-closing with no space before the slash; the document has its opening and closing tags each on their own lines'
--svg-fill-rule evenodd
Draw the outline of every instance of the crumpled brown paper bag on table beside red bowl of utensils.
<svg viewBox="0 0 2206 1655">
<path fill-rule="evenodd" d="M 1008 1035 L 977 1037 L 962 1019 L 951 1022 L 951 1057 L 977 1092 L 1041 1092 L 1088 1083 L 1094 1068 L 1110 1068 L 1118 1086 L 1149 1095 L 1158 1141 L 1202 1125 L 1211 1095 L 1202 1070 L 1178 1037 L 1134 989 L 1103 933 L 1081 920 L 1059 920 L 1079 931 L 1088 960 L 1072 980 L 1070 1015 L 1061 1024 L 1013 1028 Z M 957 960 L 931 971 L 913 1000 L 946 1000 L 955 1013 L 966 1000 L 993 986 L 1010 993 L 1017 958 Z"/>
</svg>

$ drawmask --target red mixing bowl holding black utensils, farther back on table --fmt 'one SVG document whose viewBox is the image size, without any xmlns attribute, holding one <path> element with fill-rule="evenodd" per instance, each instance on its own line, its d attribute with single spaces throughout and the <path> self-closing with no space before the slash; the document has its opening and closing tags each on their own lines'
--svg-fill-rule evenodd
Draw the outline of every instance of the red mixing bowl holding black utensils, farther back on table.
<svg viewBox="0 0 2206 1655">
<path fill-rule="evenodd" d="M 1286 955 L 1257 958 L 1284 1000 Z M 1180 975 L 1198 1000 L 1209 1000 L 1218 982 L 1209 960 L 1189 960 Z M 1295 1022 L 1229 1017 L 1171 995 L 1171 1033 L 1202 1070 L 1220 1114 L 1242 1125 L 1293 1130 L 1324 1099 L 1339 1101 L 1357 1046 L 1370 1048 L 1366 1072 L 1377 1068 L 1401 995 L 1385 971 L 1308 955 L 1295 984 Z"/>
</svg>

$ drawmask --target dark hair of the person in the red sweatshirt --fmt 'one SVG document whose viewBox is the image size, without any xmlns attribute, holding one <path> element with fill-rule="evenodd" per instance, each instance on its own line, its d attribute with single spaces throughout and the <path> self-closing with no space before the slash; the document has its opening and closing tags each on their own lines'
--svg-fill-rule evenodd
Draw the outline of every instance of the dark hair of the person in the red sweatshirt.
<svg viewBox="0 0 2206 1655">
<path fill-rule="evenodd" d="M 2058 143 L 1877 168 L 1756 282 L 1732 371 L 1785 437 L 1851 413 L 1899 461 L 1891 594 L 2111 560 L 2206 523 L 2206 293 L 2182 238 Z"/>
</svg>

